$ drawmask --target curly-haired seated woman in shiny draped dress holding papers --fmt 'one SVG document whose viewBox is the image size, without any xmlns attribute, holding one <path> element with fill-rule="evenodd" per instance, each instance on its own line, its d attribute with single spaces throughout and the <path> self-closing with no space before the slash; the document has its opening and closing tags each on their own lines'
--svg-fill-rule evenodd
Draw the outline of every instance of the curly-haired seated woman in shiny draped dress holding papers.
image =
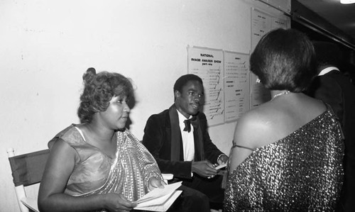
<svg viewBox="0 0 355 212">
<path fill-rule="evenodd" d="M 40 211 L 130 211 L 164 182 L 153 156 L 125 128 L 133 87 L 114 72 L 89 68 L 72 124 L 48 143 Z"/>
</svg>

